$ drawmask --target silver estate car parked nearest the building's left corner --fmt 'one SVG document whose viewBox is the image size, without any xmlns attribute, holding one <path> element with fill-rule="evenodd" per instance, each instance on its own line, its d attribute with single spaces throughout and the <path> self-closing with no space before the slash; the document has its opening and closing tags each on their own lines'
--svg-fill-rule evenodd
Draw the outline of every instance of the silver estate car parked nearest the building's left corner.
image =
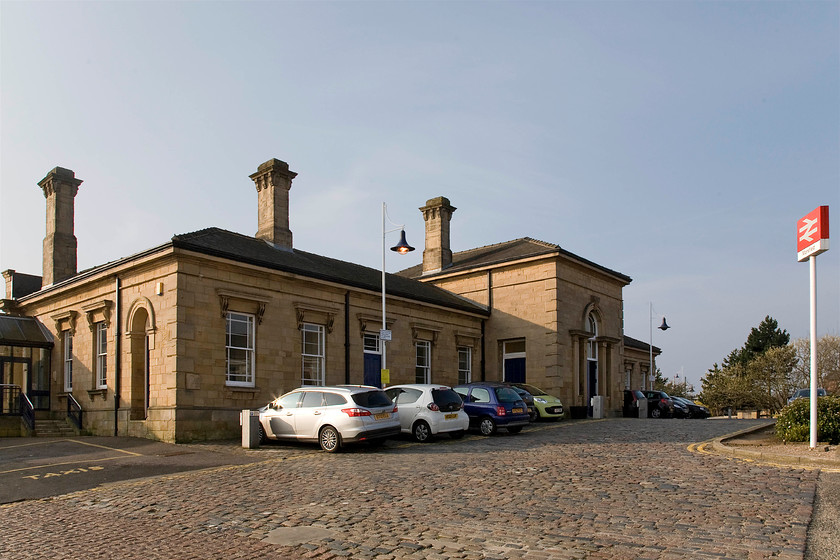
<svg viewBox="0 0 840 560">
<path fill-rule="evenodd" d="M 260 439 L 317 441 L 333 453 L 347 443 L 380 443 L 399 435 L 397 406 L 365 385 L 301 387 L 260 409 Z"/>
</svg>

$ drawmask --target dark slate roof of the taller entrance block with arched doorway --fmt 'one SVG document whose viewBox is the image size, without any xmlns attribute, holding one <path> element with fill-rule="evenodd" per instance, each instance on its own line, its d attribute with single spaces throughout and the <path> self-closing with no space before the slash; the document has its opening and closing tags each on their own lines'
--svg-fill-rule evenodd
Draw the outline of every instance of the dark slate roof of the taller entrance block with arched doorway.
<svg viewBox="0 0 840 560">
<path fill-rule="evenodd" d="M 571 260 L 577 261 L 581 264 L 591 266 L 601 272 L 608 274 L 622 282 L 630 283 L 633 281 L 629 276 L 611 270 L 605 266 L 601 266 L 588 259 L 584 259 L 579 255 L 575 255 L 560 245 L 553 243 L 546 243 L 530 237 L 521 237 L 513 241 L 506 241 L 504 243 L 497 243 L 495 245 L 486 245 L 478 247 L 477 249 L 469 249 L 467 251 L 460 251 L 452 254 L 452 265 L 440 272 L 427 274 L 424 277 L 429 278 L 437 274 L 450 274 L 453 272 L 463 272 L 473 268 L 483 268 L 487 266 L 500 265 L 506 262 L 518 261 L 538 256 L 548 256 L 552 254 L 562 255 Z M 420 278 L 423 276 L 423 265 L 419 264 L 411 268 L 407 268 L 398 272 L 400 276 L 407 278 Z"/>
</svg>

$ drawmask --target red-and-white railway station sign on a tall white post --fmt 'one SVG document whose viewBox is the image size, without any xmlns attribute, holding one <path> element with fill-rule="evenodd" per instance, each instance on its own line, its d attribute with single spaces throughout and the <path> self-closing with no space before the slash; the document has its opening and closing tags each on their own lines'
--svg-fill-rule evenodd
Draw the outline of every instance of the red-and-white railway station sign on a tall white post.
<svg viewBox="0 0 840 560">
<path fill-rule="evenodd" d="M 828 251 L 828 206 L 796 223 L 796 258 L 811 268 L 811 449 L 817 446 L 817 255 Z"/>
</svg>

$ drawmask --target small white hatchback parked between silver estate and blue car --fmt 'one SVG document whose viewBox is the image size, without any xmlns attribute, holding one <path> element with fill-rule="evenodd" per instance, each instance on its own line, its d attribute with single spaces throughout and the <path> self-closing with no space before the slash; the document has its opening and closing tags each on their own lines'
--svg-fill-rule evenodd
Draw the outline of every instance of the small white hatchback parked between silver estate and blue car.
<svg viewBox="0 0 840 560">
<path fill-rule="evenodd" d="M 470 417 L 464 411 L 461 396 L 445 385 L 392 385 L 385 394 L 400 411 L 400 426 L 404 434 L 426 442 L 440 433 L 458 439 L 470 427 Z"/>
</svg>

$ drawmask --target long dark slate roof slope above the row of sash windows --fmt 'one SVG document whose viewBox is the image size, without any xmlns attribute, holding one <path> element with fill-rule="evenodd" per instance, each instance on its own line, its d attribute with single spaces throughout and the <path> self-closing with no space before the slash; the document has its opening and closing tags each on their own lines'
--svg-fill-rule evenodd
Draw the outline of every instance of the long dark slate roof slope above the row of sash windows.
<svg viewBox="0 0 840 560">
<path fill-rule="evenodd" d="M 382 271 L 340 261 L 299 249 L 278 249 L 255 237 L 220 228 L 208 228 L 172 238 L 176 248 L 196 251 L 238 262 L 264 266 L 309 278 L 336 282 L 346 286 L 379 292 Z M 424 282 L 386 274 L 389 295 L 405 297 L 471 313 L 489 316 L 489 311 L 465 298 Z"/>
</svg>

